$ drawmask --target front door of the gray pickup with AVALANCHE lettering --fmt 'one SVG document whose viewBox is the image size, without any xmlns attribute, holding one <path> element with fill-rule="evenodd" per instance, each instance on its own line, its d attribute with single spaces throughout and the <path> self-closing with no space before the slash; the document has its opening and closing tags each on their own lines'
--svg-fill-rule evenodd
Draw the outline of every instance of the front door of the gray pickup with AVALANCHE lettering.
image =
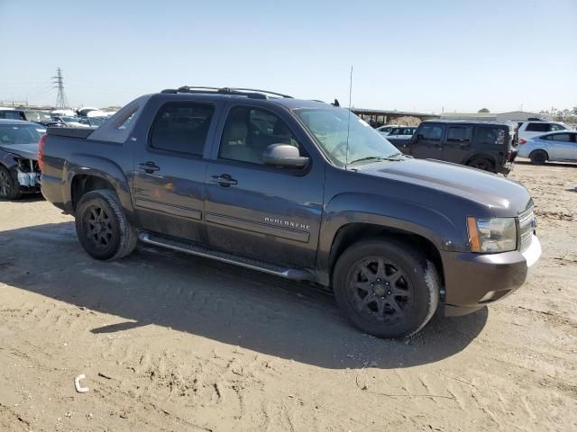
<svg viewBox="0 0 577 432">
<path fill-rule="evenodd" d="M 314 267 L 324 165 L 312 158 L 302 169 L 262 162 L 264 149 L 277 143 L 309 156 L 297 121 L 280 109 L 236 104 L 222 130 L 206 172 L 209 246 L 272 264 Z"/>
</svg>

